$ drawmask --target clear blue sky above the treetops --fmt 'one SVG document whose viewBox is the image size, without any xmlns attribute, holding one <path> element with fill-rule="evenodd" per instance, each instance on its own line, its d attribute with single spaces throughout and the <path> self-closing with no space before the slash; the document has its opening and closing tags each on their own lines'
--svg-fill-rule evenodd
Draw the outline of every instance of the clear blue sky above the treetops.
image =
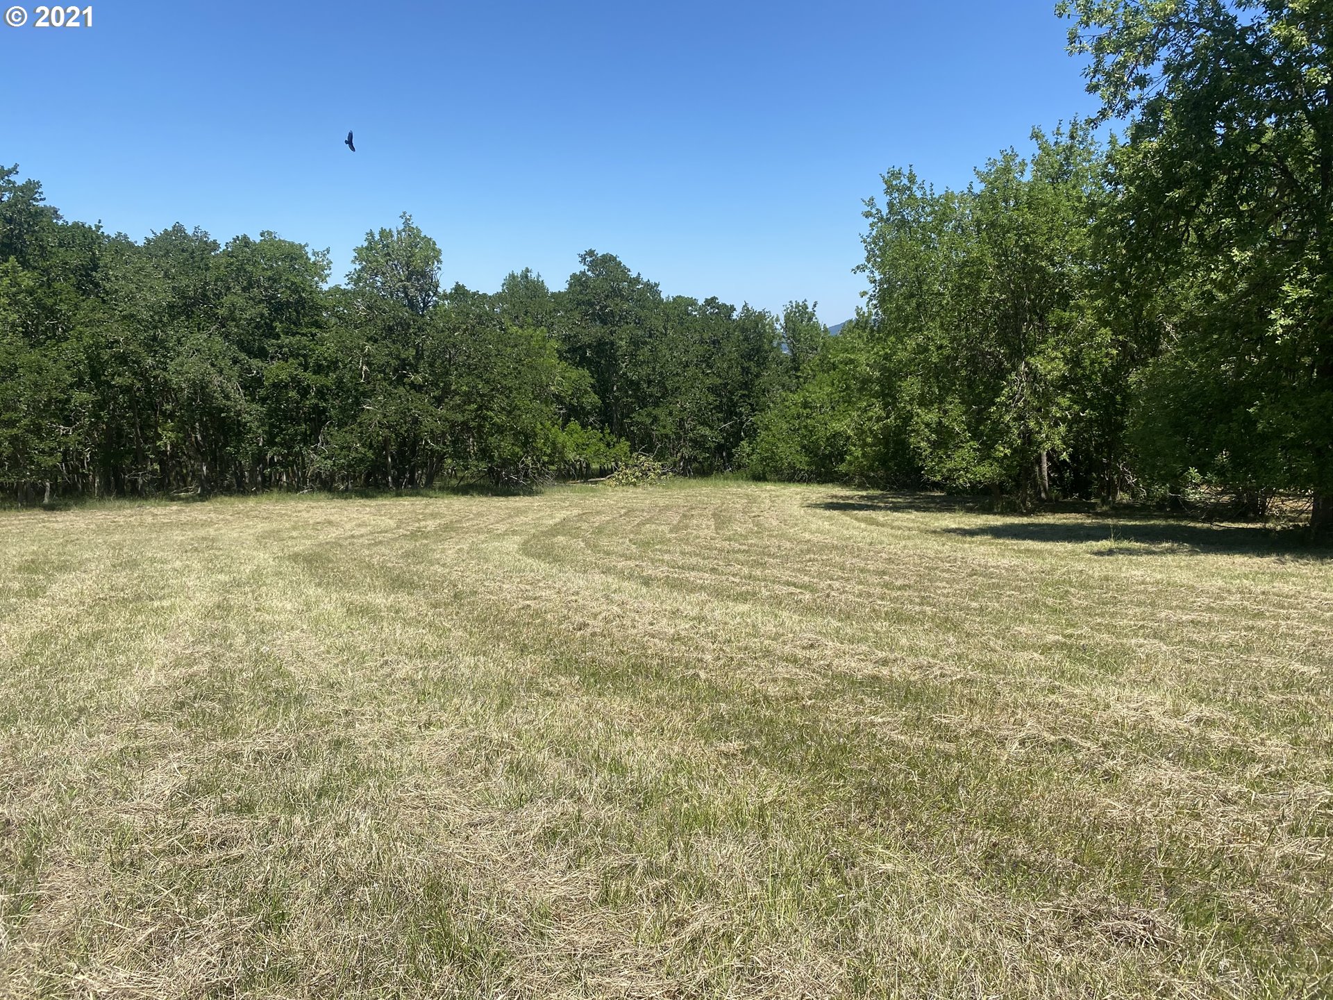
<svg viewBox="0 0 1333 1000">
<path fill-rule="evenodd" d="M 91 29 L 0 25 L 0 160 L 69 219 L 273 229 L 336 280 L 408 211 L 447 284 L 559 287 L 592 247 L 668 295 L 837 323 L 885 169 L 961 185 L 1093 109 L 1054 0 L 92 5 Z"/>
</svg>

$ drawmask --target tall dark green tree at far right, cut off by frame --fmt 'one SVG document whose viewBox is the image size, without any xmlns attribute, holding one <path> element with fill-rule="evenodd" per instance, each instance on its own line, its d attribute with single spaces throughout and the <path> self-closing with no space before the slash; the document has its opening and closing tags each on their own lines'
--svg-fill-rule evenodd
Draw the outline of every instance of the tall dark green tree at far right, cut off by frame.
<svg viewBox="0 0 1333 1000">
<path fill-rule="evenodd" d="M 1118 308 L 1158 475 L 1312 491 L 1333 523 L 1333 17 L 1322 0 L 1073 0 L 1114 157 Z"/>
</svg>

